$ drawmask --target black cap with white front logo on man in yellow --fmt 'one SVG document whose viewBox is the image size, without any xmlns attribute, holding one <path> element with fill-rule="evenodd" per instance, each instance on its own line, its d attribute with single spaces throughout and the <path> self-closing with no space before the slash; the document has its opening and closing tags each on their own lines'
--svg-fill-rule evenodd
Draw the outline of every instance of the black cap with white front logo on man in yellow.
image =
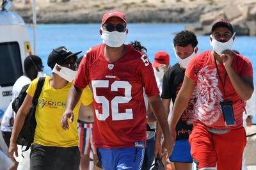
<svg viewBox="0 0 256 170">
<path fill-rule="evenodd" d="M 72 56 L 76 56 L 77 54 L 80 54 L 82 51 L 74 52 L 72 53 L 70 50 L 68 50 L 66 47 L 61 46 L 58 47 L 49 54 L 47 65 L 49 67 L 54 68 L 56 63 L 58 65 L 62 65 L 64 61 Z"/>
</svg>

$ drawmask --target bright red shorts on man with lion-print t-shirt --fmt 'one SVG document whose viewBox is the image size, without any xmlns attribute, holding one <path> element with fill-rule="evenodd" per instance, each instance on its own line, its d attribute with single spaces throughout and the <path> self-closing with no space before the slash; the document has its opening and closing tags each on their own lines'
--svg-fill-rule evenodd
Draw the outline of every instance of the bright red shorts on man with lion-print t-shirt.
<svg viewBox="0 0 256 170">
<path fill-rule="evenodd" d="M 240 170 L 246 133 L 243 127 L 225 134 L 209 132 L 204 125 L 196 124 L 189 135 L 191 155 L 198 169 Z"/>
</svg>

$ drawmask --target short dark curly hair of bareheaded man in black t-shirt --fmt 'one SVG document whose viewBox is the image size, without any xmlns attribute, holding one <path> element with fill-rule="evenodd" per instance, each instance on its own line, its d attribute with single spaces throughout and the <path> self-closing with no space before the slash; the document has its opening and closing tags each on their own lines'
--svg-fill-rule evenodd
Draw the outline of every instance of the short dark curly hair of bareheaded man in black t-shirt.
<svg viewBox="0 0 256 170">
<path fill-rule="evenodd" d="M 191 44 L 193 48 L 198 44 L 196 35 L 191 31 L 181 31 L 180 33 L 177 33 L 173 39 L 174 47 L 186 47 L 189 44 Z"/>
</svg>

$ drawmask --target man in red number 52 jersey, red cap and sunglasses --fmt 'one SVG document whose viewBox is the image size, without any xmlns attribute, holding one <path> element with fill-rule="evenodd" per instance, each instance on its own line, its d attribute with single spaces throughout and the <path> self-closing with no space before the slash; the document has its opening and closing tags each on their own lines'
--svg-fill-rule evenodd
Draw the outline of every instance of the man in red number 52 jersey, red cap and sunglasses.
<svg viewBox="0 0 256 170">
<path fill-rule="evenodd" d="M 86 52 L 61 118 L 67 129 L 67 119 L 72 121 L 72 109 L 90 83 L 95 109 L 93 138 L 106 170 L 141 169 L 146 141 L 143 88 L 163 129 L 164 148 L 170 151 L 170 131 L 152 65 L 143 52 L 124 45 L 126 26 L 124 13 L 104 14 L 100 28 L 103 44 Z"/>
</svg>

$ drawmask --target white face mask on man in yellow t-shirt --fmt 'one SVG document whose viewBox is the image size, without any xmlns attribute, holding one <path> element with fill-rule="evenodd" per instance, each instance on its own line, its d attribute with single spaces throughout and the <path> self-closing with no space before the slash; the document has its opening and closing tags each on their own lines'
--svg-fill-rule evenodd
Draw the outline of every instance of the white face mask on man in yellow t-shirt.
<svg viewBox="0 0 256 170">
<path fill-rule="evenodd" d="M 56 69 L 56 66 L 59 66 L 61 68 L 60 72 Z M 72 82 L 73 79 L 76 77 L 76 73 L 77 73 L 77 71 L 71 70 L 65 66 L 60 66 L 58 64 L 54 66 L 54 68 L 52 69 L 52 72 L 60 75 L 60 77 L 62 77 L 68 82 Z"/>
</svg>

